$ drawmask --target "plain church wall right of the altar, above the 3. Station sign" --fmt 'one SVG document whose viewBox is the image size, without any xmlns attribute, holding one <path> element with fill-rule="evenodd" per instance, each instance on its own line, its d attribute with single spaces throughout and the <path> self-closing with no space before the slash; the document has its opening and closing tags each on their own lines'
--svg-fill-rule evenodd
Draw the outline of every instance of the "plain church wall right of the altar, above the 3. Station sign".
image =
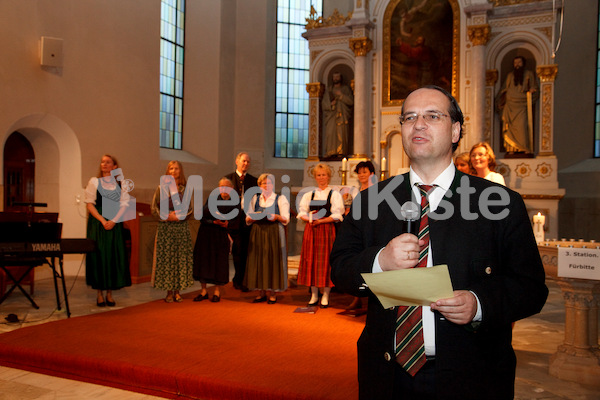
<svg viewBox="0 0 600 400">
<path fill-rule="evenodd" d="M 593 158 L 597 29 L 596 0 L 567 2 L 554 106 L 554 152 L 566 190 L 559 235 L 567 239 L 600 240 L 600 159 Z"/>
</svg>

